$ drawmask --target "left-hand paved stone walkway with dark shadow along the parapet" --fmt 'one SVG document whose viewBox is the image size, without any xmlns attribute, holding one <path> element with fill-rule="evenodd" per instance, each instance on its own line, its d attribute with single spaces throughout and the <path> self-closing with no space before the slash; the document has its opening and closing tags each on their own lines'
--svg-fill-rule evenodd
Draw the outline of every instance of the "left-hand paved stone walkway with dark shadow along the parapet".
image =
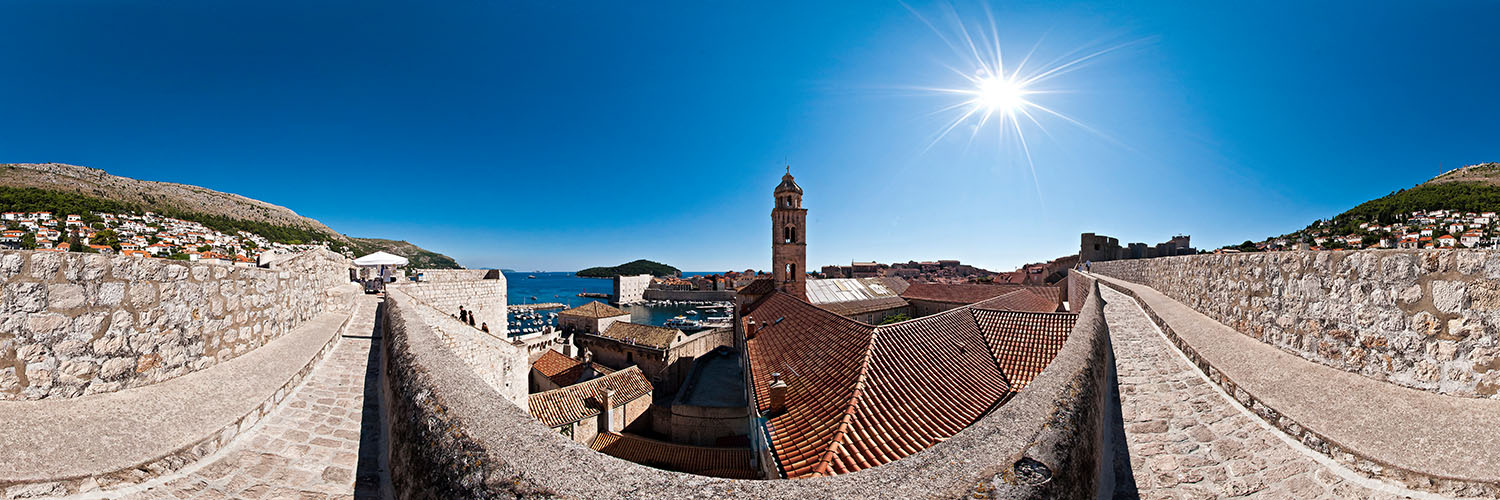
<svg viewBox="0 0 1500 500">
<path fill-rule="evenodd" d="M 376 297 L 360 297 L 345 336 L 302 387 L 216 461 L 126 498 L 386 497 L 380 417 L 374 405 L 364 407 L 368 377 L 372 389 L 378 381 L 378 305 Z"/>
</svg>

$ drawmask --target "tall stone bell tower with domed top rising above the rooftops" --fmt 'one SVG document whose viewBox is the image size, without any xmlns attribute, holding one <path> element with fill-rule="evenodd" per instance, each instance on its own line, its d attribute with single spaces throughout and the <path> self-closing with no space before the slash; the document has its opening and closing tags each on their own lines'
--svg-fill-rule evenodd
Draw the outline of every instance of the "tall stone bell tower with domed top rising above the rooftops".
<svg viewBox="0 0 1500 500">
<path fill-rule="evenodd" d="M 792 180 L 792 167 L 776 186 L 771 209 L 771 279 L 776 288 L 807 299 L 807 209 L 802 188 Z"/>
</svg>

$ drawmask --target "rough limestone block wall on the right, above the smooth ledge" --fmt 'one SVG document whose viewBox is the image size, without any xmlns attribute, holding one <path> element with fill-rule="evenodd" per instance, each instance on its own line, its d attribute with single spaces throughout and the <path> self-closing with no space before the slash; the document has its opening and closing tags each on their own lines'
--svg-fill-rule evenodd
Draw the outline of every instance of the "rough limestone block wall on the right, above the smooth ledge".
<svg viewBox="0 0 1500 500">
<path fill-rule="evenodd" d="M 1094 263 L 1305 359 L 1456 396 L 1500 390 L 1500 252 L 1386 249 Z"/>
</svg>

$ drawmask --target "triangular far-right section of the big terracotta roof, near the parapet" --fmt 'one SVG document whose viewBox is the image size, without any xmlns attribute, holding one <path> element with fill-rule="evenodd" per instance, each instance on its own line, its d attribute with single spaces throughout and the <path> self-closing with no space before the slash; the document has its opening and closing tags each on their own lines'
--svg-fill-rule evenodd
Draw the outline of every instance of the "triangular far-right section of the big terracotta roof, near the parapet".
<svg viewBox="0 0 1500 500">
<path fill-rule="evenodd" d="M 1011 390 L 1026 387 L 1053 357 L 1072 332 L 1077 314 L 1023 312 L 974 308 L 974 318 L 990 344 L 994 362 L 1000 365 Z"/>
</svg>

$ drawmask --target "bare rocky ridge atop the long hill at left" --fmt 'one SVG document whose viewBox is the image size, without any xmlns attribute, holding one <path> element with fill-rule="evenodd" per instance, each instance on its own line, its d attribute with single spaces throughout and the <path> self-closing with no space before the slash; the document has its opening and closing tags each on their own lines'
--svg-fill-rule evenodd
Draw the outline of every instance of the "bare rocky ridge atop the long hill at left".
<svg viewBox="0 0 1500 500">
<path fill-rule="evenodd" d="M 334 249 L 348 246 L 356 255 L 386 251 L 410 258 L 414 267 L 460 267 L 452 257 L 423 249 L 410 242 L 340 234 L 322 222 L 297 215 L 297 212 L 278 204 L 200 186 L 111 176 L 99 168 L 68 164 L 0 164 L 0 186 L 32 188 L 76 195 L 80 198 L 108 200 L 128 207 L 162 212 L 184 219 L 237 219 L 262 224 L 261 228 L 266 228 L 266 225 L 296 228 L 322 234 L 330 243 L 334 243 Z"/>
</svg>

